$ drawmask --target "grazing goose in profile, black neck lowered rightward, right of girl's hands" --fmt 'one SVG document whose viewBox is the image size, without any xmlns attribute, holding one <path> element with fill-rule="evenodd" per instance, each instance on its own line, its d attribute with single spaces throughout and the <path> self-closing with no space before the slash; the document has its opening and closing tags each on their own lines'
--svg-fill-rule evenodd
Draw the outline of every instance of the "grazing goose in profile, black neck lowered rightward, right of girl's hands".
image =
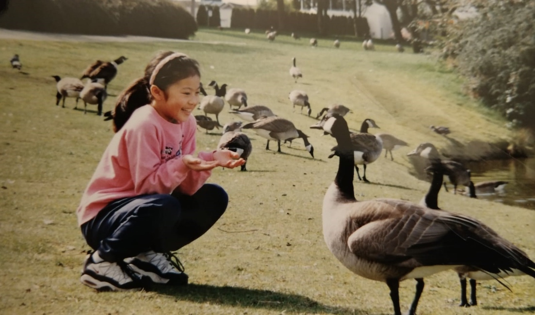
<svg viewBox="0 0 535 315">
<path fill-rule="evenodd" d="M 308 142 L 308 136 L 305 135 L 301 130 L 295 128 L 293 122 L 277 117 L 277 116 L 271 116 L 271 117 L 263 117 L 261 119 L 258 119 L 253 122 L 249 122 L 249 124 L 246 124 L 242 127 L 243 129 L 254 129 L 255 132 L 265 138 L 268 139 L 268 143 L 266 143 L 266 150 L 269 150 L 269 141 L 277 141 L 278 149 L 277 152 L 280 151 L 280 141 L 281 140 L 294 140 L 296 138 L 303 139 L 304 147 L 307 149 L 307 151 L 310 153 L 312 157 L 314 157 L 314 147 L 312 147 L 312 144 Z"/>
</svg>

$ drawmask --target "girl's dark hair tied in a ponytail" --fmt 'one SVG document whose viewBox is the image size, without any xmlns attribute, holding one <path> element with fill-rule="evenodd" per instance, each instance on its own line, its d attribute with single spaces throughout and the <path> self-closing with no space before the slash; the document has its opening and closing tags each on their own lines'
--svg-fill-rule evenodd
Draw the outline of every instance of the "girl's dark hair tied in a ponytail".
<svg viewBox="0 0 535 315">
<path fill-rule="evenodd" d="M 158 66 L 163 59 L 173 53 L 174 51 L 158 52 L 145 67 L 145 74 L 143 77 L 132 82 L 117 97 L 117 102 L 115 103 L 115 108 L 112 113 L 114 132 L 118 132 L 126 124 L 126 121 L 132 116 L 132 113 L 136 109 L 143 105 L 147 105 L 152 101 L 152 96 L 149 90 L 150 77 L 156 66 Z M 171 84 L 193 75 L 201 76 L 199 65 L 195 59 L 187 56 L 174 58 L 169 60 L 169 62 L 163 65 L 158 73 L 156 73 L 154 85 L 165 93 L 165 90 L 169 88 Z"/>
</svg>

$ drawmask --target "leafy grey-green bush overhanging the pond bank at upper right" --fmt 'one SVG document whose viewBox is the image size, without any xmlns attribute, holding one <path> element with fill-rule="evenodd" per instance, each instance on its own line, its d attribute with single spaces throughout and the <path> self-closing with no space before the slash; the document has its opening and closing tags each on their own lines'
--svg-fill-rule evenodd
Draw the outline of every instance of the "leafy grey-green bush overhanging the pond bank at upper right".
<svg viewBox="0 0 535 315">
<path fill-rule="evenodd" d="M 488 1 L 477 16 L 445 23 L 442 57 L 470 78 L 471 93 L 510 120 L 534 129 L 535 3 Z"/>
</svg>

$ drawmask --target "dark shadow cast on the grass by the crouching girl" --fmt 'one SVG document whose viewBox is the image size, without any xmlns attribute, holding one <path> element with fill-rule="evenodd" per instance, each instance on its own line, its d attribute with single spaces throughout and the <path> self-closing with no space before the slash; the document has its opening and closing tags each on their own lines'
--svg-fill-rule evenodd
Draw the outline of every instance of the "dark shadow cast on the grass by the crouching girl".
<svg viewBox="0 0 535 315">
<path fill-rule="evenodd" d="M 184 287 L 158 287 L 160 294 L 174 296 L 180 300 L 194 303 L 211 303 L 239 308 L 256 308 L 276 311 L 292 311 L 297 313 L 332 313 L 332 314 L 365 314 L 358 309 L 340 308 L 320 304 L 313 299 L 292 293 L 280 293 L 270 290 L 248 289 L 240 287 L 215 287 L 209 285 L 189 284 Z"/>
</svg>

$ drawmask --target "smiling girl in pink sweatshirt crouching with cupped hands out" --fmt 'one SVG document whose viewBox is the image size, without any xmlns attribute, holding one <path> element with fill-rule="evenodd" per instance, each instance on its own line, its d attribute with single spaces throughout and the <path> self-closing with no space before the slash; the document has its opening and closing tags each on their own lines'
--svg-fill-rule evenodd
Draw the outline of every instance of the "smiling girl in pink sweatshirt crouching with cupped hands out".
<svg viewBox="0 0 535 315">
<path fill-rule="evenodd" d="M 97 290 L 149 282 L 184 285 L 171 251 L 201 236 L 225 212 L 212 168 L 245 161 L 229 150 L 195 151 L 200 71 L 194 59 L 163 52 L 118 98 L 108 148 L 82 196 L 78 223 L 89 252 L 80 281 Z"/>
</svg>

